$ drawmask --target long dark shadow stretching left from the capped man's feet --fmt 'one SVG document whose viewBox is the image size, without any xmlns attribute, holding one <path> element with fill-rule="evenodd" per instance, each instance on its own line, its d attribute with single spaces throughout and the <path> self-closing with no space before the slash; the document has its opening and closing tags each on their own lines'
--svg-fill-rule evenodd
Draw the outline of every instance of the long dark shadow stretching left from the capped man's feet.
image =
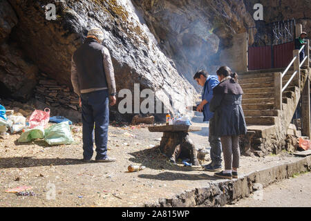
<svg viewBox="0 0 311 221">
<path fill-rule="evenodd" d="M 36 159 L 32 157 L 7 157 L 0 158 L 0 169 L 8 168 L 25 168 L 34 166 L 60 166 L 60 165 L 73 165 L 73 164 L 85 164 L 82 160 L 71 158 L 46 158 Z"/>
</svg>

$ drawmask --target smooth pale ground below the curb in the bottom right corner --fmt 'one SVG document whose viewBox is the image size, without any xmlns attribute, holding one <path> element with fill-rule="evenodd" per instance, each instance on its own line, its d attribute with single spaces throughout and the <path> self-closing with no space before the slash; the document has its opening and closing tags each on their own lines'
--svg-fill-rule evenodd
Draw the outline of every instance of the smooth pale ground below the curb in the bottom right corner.
<svg viewBox="0 0 311 221">
<path fill-rule="evenodd" d="M 262 197 L 259 197 L 262 196 Z M 226 207 L 310 207 L 311 173 L 267 186 L 262 195 L 255 193 Z"/>
</svg>

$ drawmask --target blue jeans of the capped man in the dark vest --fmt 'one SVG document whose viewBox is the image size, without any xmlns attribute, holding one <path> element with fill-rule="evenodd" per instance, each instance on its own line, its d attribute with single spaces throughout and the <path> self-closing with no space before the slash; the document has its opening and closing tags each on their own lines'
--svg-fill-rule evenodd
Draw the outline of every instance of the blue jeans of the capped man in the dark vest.
<svg viewBox="0 0 311 221">
<path fill-rule="evenodd" d="M 82 101 L 82 140 L 83 158 L 91 160 L 93 156 L 93 135 L 95 123 L 95 160 L 107 156 L 108 126 L 109 126 L 109 93 L 108 90 L 98 90 L 81 95 Z"/>
</svg>

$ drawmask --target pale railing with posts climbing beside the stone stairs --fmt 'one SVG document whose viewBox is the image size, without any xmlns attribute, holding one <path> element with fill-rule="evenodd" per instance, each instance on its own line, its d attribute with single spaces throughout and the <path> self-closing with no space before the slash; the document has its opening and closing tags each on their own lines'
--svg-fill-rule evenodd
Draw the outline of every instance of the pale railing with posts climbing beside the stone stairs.
<svg viewBox="0 0 311 221">
<path fill-rule="evenodd" d="M 299 53 L 302 50 L 305 50 L 305 58 L 303 59 L 303 61 L 300 62 Z M 274 73 L 274 109 L 282 110 L 282 93 L 285 91 L 286 88 L 288 88 L 293 79 L 296 79 L 295 85 L 299 86 L 300 89 L 300 68 L 301 66 L 303 66 L 303 64 L 305 64 L 305 62 L 307 62 L 305 66 L 310 66 L 310 50 L 310 41 L 307 40 L 307 44 L 300 48 L 300 50 L 293 50 L 293 59 L 292 61 L 290 61 L 288 67 L 285 68 L 284 72 Z M 288 70 L 290 70 L 292 66 L 294 66 L 294 72 L 290 79 L 283 86 L 283 77 L 288 73 Z"/>
</svg>

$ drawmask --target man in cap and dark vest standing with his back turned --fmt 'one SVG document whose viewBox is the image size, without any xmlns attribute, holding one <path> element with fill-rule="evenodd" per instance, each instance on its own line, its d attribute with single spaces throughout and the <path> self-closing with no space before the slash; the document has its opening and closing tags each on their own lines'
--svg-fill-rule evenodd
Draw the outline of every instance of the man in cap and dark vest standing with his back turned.
<svg viewBox="0 0 311 221">
<path fill-rule="evenodd" d="M 116 103 L 115 75 L 109 50 L 102 46 L 104 33 L 92 28 L 84 44 L 74 53 L 71 61 L 73 90 L 82 106 L 83 160 L 91 162 L 95 123 L 96 162 L 114 162 L 107 155 L 109 98 Z"/>
</svg>

